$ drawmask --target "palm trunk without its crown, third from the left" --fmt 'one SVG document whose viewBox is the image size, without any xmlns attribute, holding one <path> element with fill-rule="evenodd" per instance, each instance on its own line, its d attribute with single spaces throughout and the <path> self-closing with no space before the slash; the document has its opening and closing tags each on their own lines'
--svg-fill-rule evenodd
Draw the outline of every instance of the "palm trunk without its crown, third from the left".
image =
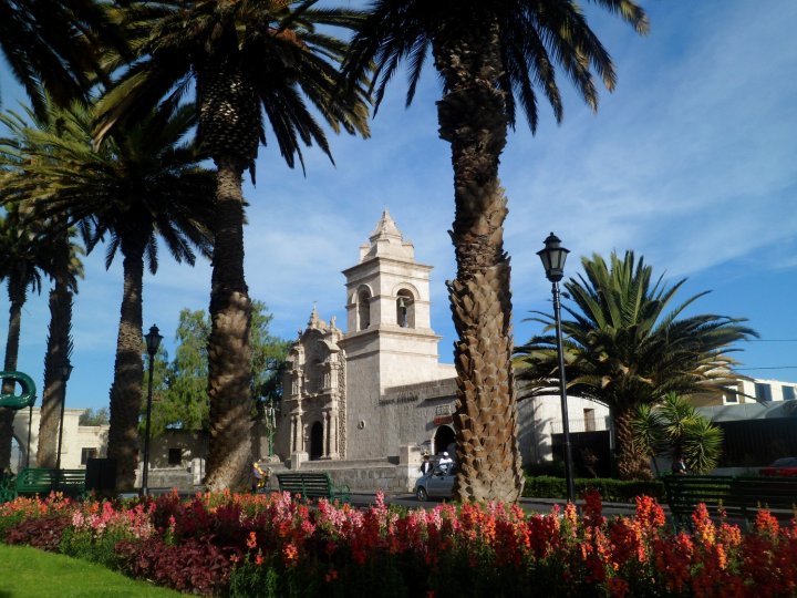
<svg viewBox="0 0 797 598">
<path fill-rule="evenodd" d="M 107 455 L 116 460 L 116 487 L 135 485 L 138 454 L 138 414 L 142 405 L 142 288 L 144 244 L 122 240 L 124 295 L 116 339 L 114 381 L 111 385 L 111 422 Z"/>
</svg>

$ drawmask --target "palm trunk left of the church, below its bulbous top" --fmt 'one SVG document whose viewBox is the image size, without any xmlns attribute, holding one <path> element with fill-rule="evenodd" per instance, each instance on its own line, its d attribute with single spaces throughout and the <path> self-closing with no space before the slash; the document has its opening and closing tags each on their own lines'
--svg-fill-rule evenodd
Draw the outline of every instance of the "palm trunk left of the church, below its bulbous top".
<svg viewBox="0 0 797 598">
<path fill-rule="evenodd" d="M 208 489 L 248 487 L 251 443 L 251 301 L 244 277 L 241 163 L 215 158 L 216 230 L 210 290 Z"/>
</svg>

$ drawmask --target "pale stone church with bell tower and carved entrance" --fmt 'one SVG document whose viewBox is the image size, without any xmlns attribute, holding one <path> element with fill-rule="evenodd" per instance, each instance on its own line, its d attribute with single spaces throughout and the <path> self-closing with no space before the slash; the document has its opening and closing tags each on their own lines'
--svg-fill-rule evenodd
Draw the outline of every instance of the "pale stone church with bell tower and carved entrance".
<svg viewBox="0 0 797 598">
<path fill-rule="evenodd" d="M 438 361 L 431 266 L 387 210 L 345 276 L 345 331 L 313 307 L 293 342 L 275 452 L 304 461 L 415 463 L 454 443 L 454 365 Z"/>
</svg>

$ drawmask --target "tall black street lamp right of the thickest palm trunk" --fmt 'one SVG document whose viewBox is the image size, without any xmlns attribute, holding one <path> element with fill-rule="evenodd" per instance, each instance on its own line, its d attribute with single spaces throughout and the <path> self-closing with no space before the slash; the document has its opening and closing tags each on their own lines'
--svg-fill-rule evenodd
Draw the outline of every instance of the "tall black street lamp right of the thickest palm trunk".
<svg viewBox="0 0 797 598">
<path fill-rule="evenodd" d="M 567 478 L 568 501 L 575 503 L 576 487 L 573 485 L 572 452 L 570 450 L 570 423 L 567 411 L 567 380 L 565 378 L 565 350 L 561 339 L 561 306 L 559 302 L 559 281 L 565 276 L 565 261 L 569 249 L 561 246 L 561 240 L 551 233 L 545 240 L 545 249 L 537 251 L 542 260 L 546 277 L 551 281 L 553 293 L 553 319 L 557 329 L 557 352 L 559 353 L 559 394 L 561 396 L 562 431 L 565 433 L 565 477 Z"/>
</svg>

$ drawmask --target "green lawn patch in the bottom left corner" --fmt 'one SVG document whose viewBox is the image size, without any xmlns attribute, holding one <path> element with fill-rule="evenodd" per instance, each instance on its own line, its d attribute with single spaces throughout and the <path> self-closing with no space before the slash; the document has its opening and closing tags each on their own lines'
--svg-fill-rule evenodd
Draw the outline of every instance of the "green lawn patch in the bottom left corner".
<svg viewBox="0 0 797 598">
<path fill-rule="evenodd" d="M 182 596 L 105 567 L 28 546 L 0 544 L 0 598 Z"/>
</svg>

